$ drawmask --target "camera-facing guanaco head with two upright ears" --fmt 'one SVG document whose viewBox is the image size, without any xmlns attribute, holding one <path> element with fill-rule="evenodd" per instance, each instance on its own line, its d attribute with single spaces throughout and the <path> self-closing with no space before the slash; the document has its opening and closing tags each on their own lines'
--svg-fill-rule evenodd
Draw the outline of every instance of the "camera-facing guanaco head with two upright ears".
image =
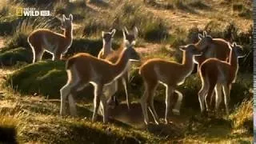
<svg viewBox="0 0 256 144">
<path fill-rule="evenodd" d="M 122 30 L 123 34 L 123 40 L 125 45 L 127 46 L 128 44 L 130 45 L 135 45 L 136 43 L 136 38 L 138 37 L 138 29 L 136 26 L 134 26 L 134 31 L 132 33 L 129 33 L 129 31 L 126 29 L 126 27 Z"/>
</svg>

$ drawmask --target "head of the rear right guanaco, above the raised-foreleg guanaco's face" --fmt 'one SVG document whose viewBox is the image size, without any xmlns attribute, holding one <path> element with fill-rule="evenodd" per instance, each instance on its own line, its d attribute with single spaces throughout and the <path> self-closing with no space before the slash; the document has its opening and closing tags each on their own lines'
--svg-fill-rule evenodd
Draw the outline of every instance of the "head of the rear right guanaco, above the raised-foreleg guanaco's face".
<svg viewBox="0 0 256 144">
<path fill-rule="evenodd" d="M 196 44 L 199 50 L 205 50 L 213 41 L 213 38 L 203 31 L 203 34 L 198 34 L 199 42 Z"/>
</svg>

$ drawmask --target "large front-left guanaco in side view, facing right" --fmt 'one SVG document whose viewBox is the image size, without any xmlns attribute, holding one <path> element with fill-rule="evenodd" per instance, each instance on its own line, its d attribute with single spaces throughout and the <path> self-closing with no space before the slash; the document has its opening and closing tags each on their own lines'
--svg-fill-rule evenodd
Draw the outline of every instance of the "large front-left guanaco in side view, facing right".
<svg viewBox="0 0 256 144">
<path fill-rule="evenodd" d="M 98 59 L 90 54 L 76 54 L 66 62 L 68 80 L 60 90 L 61 110 L 60 114 L 66 114 L 66 99 L 69 101 L 70 114 L 76 115 L 73 95 L 82 90 L 89 83 L 94 86 L 94 114 L 93 122 L 98 115 L 98 107 L 101 102 L 103 122 L 108 121 L 106 95 L 102 93 L 103 87 L 111 85 L 126 72 L 130 61 L 139 61 L 140 57 L 133 48 L 134 43 L 126 42 L 125 48 L 114 64 L 106 60 Z"/>
</svg>

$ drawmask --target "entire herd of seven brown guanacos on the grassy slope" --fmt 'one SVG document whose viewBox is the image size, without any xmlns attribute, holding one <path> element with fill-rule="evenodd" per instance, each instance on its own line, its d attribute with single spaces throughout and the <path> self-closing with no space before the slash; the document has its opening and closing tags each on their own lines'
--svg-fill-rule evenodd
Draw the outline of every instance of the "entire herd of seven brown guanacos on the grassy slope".
<svg viewBox="0 0 256 144">
<path fill-rule="evenodd" d="M 62 30 L 64 34 L 58 34 L 51 30 L 35 30 L 28 37 L 34 59 L 38 62 L 42 54 L 47 51 L 53 55 L 53 60 L 62 58 L 62 55 L 72 45 L 73 39 L 73 16 L 69 18 L 63 15 Z M 113 98 L 121 83 L 126 92 L 126 102 L 130 109 L 130 100 L 127 92 L 130 62 L 139 62 L 140 56 L 134 49 L 138 38 L 138 29 L 129 32 L 122 30 L 123 42 L 118 50 L 112 49 L 112 40 L 116 30 L 102 31 L 103 46 L 98 58 L 86 54 L 75 54 L 66 61 L 66 73 L 68 80 L 60 90 L 61 109 L 60 114 L 66 114 L 66 101 L 69 103 L 70 114 L 76 115 L 74 95 L 85 86 L 94 86 L 94 122 L 98 115 L 98 109 L 103 116 L 103 122 L 108 122 L 108 101 Z M 183 95 L 177 90 L 194 70 L 194 63 L 198 64 L 198 74 L 202 80 L 202 88 L 198 92 L 201 112 L 209 110 L 209 101 L 215 95 L 215 110 L 218 110 L 222 102 L 222 91 L 226 105 L 226 114 L 229 114 L 230 90 L 238 73 L 238 58 L 245 56 L 242 46 L 235 42 L 230 44 L 222 38 L 212 38 L 210 35 L 198 34 L 199 42 L 180 46 L 182 50 L 182 63 L 170 62 L 165 59 L 153 58 L 142 64 L 139 74 L 144 81 L 145 91 L 140 100 L 144 122 L 149 124 L 147 108 L 153 115 L 154 122 L 159 123 L 158 114 L 154 109 L 154 92 L 159 83 L 166 86 L 166 113 L 165 121 L 170 110 L 170 98 L 172 94 L 178 94 L 178 100 L 172 112 L 180 114 Z"/>
</svg>

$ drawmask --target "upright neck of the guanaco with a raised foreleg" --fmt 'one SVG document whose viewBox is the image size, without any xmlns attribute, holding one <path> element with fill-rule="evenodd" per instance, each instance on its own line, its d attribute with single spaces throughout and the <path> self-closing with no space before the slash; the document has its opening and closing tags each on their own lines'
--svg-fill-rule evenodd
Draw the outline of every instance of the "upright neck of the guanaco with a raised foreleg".
<svg viewBox="0 0 256 144">
<path fill-rule="evenodd" d="M 182 73 L 190 74 L 194 70 L 194 55 L 187 51 L 183 51 L 182 55 Z"/>
</svg>

